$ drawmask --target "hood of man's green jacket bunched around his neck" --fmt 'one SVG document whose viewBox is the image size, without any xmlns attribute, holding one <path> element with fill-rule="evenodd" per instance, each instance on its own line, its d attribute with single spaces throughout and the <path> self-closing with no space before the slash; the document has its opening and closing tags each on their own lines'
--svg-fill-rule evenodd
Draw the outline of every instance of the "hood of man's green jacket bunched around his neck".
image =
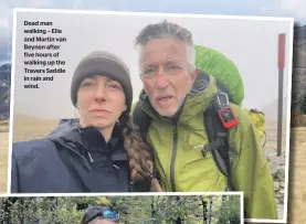
<svg viewBox="0 0 306 224">
<path fill-rule="evenodd" d="M 178 122 L 188 122 L 190 118 L 203 113 L 211 104 L 212 97 L 218 92 L 217 82 L 213 76 L 200 73 L 196 78 L 191 92 L 187 94 L 181 108 L 179 109 Z M 148 95 L 143 90 L 139 97 L 143 110 L 151 117 L 151 119 L 162 119 L 171 121 L 171 119 L 160 116 L 150 104 Z"/>
</svg>

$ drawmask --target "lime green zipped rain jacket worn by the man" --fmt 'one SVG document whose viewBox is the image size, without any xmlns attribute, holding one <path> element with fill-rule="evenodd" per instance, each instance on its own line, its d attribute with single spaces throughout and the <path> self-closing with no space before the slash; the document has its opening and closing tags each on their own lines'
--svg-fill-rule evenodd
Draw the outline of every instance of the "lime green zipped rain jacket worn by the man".
<svg viewBox="0 0 306 224">
<path fill-rule="evenodd" d="M 140 96 L 143 110 L 151 117 L 148 139 L 156 151 L 160 184 L 168 192 L 220 192 L 226 178 L 219 171 L 212 153 L 201 153 L 208 145 L 203 111 L 217 92 L 214 77 L 207 87 L 196 81 L 177 121 L 159 116 L 146 94 Z M 264 149 L 254 125 L 244 110 L 231 105 L 240 124 L 229 131 L 229 143 L 238 157 L 232 158 L 232 179 L 236 191 L 244 193 L 249 218 L 277 220 L 274 184 Z"/>
</svg>

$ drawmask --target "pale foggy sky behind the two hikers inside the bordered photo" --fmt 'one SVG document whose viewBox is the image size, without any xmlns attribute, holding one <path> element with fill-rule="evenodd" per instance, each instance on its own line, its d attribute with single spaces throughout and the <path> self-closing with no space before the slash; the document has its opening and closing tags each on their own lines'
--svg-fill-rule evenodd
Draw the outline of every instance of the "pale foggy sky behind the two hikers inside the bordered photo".
<svg viewBox="0 0 306 224">
<path fill-rule="evenodd" d="M 24 89 L 23 21 L 36 21 L 38 18 L 40 21 L 53 22 L 54 28 L 61 29 L 62 36 L 67 39 L 61 46 L 61 58 L 66 62 L 66 74 L 55 74 L 54 82 L 41 82 L 40 89 Z M 19 12 L 14 111 L 44 118 L 74 116 L 70 99 L 72 74 L 78 61 L 95 50 L 115 53 L 127 63 L 131 71 L 134 99 L 137 100 L 143 85 L 138 76 L 138 55 L 133 40 L 145 25 L 163 19 L 167 18 Z M 245 107 L 264 108 L 277 100 L 277 38 L 278 33 L 286 33 L 287 60 L 284 83 L 284 96 L 286 96 L 289 21 L 207 18 L 168 18 L 168 20 L 190 30 L 196 44 L 213 47 L 236 64 L 245 85 L 243 103 Z M 276 111 L 277 107 L 275 116 Z"/>
</svg>

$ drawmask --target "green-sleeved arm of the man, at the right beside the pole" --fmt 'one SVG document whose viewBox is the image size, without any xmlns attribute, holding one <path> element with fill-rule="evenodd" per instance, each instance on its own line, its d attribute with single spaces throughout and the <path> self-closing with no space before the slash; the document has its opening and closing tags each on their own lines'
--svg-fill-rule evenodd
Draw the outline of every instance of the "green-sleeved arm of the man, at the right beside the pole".
<svg viewBox="0 0 306 224">
<path fill-rule="evenodd" d="M 272 172 L 255 126 L 240 107 L 233 109 L 240 125 L 230 131 L 230 145 L 239 152 L 233 160 L 232 177 L 235 190 L 244 193 L 246 218 L 277 220 Z"/>
</svg>

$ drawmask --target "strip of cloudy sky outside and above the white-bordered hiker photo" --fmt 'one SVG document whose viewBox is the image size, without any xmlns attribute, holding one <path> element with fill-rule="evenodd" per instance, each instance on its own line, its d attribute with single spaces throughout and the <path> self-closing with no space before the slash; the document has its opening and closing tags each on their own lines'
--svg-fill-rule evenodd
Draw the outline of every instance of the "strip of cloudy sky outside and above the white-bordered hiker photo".
<svg viewBox="0 0 306 224">
<path fill-rule="evenodd" d="M 300 24 L 306 24 L 305 0 L 0 0 L 0 63 L 11 57 L 12 9 L 15 7 L 293 17 Z"/>
</svg>

